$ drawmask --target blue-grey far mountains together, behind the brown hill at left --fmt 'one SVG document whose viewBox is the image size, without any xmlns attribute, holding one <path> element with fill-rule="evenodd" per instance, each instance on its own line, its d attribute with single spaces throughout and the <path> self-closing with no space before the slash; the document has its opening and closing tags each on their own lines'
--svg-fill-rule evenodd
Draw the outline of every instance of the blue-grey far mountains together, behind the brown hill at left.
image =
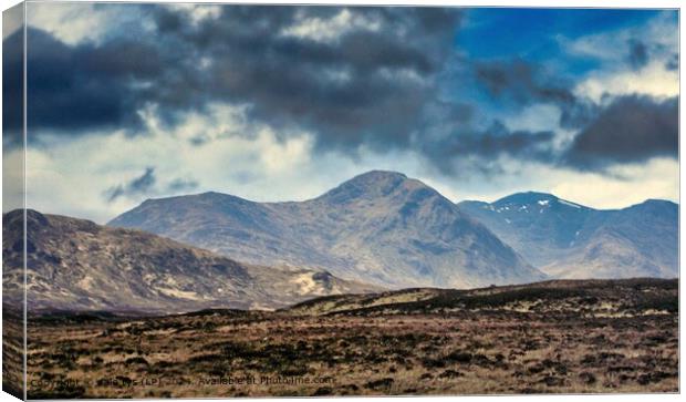
<svg viewBox="0 0 686 402">
<path fill-rule="evenodd" d="M 219 193 L 148 199 L 108 225 L 240 261 L 328 269 L 387 288 L 678 276 L 674 203 L 601 210 L 529 192 L 456 205 L 383 171 L 299 203 Z"/>
</svg>

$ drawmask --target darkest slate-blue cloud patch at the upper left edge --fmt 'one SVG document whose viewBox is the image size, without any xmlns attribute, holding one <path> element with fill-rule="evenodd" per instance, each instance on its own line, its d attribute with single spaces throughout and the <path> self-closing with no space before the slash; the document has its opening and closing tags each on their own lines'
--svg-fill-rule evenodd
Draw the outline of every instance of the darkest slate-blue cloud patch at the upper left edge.
<svg viewBox="0 0 686 402">
<path fill-rule="evenodd" d="M 13 34 L 3 45 L 21 47 Z M 49 128 L 67 135 L 85 130 L 132 126 L 141 106 L 137 83 L 163 74 L 163 64 L 153 47 L 137 41 L 112 40 L 102 45 L 70 47 L 50 33 L 27 32 L 29 130 Z M 21 75 L 23 63 L 10 59 L 3 63 L 7 76 Z M 4 86 L 9 99 L 21 99 L 21 81 Z M 8 128 L 20 128 L 15 112 L 6 110 Z M 19 114 L 20 115 L 20 114 Z"/>
</svg>

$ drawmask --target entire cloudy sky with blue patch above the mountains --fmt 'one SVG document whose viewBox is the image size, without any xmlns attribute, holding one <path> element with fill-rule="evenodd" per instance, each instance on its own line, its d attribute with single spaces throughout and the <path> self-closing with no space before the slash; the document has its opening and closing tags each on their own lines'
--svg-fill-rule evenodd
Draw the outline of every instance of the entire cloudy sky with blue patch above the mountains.
<svg viewBox="0 0 686 402">
<path fill-rule="evenodd" d="M 43 213 L 105 223 L 208 190 L 303 200 L 370 169 L 454 202 L 678 202 L 676 11 L 53 2 L 27 14 L 27 200 Z M 6 24 L 4 76 L 21 43 Z M 3 109 L 6 166 L 21 157 L 15 115 Z"/>
</svg>

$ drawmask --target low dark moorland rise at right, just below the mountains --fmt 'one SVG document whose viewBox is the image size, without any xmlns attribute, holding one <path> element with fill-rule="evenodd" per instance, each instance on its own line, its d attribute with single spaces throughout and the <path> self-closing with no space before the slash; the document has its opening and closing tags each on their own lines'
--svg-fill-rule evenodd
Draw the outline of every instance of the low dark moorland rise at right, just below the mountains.
<svg viewBox="0 0 686 402">
<path fill-rule="evenodd" d="M 403 289 L 321 297 L 283 311 L 294 316 L 435 315 L 464 311 L 586 313 L 599 317 L 675 313 L 678 311 L 678 280 L 549 280 L 468 290 Z"/>
</svg>

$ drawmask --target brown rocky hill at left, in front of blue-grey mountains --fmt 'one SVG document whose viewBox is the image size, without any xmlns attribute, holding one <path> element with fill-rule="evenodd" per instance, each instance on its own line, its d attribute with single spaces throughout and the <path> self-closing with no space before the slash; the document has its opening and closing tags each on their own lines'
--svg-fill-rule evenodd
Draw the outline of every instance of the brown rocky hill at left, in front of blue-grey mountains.
<svg viewBox="0 0 686 402">
<path fill-rule="evenodd" d="M 3 215 L 4 296 L 21 300 L 22 210 Z M 27 210 L 27 281 L 32 311 L 184 312 L 273 309 L 376 287 L 329 272 L 246 265 L 139 230 Z"/>
</svg>

